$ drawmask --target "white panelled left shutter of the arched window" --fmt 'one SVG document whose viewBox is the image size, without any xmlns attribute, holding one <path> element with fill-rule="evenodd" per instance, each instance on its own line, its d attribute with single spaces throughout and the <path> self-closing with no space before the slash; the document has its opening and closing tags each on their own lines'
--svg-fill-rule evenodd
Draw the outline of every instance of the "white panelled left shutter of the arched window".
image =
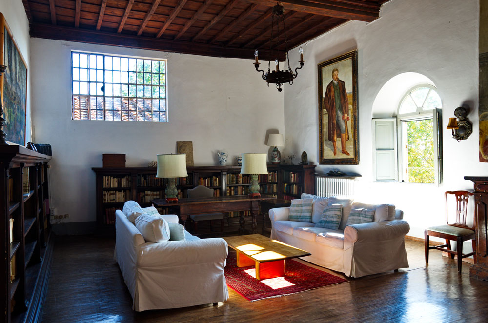
<svg viewBox="0 0 488 323">
<path fill-rule="evenodd" d="M 372 119 L 375 181 L 398 181 L 396 118 Z"/>
</svg>

